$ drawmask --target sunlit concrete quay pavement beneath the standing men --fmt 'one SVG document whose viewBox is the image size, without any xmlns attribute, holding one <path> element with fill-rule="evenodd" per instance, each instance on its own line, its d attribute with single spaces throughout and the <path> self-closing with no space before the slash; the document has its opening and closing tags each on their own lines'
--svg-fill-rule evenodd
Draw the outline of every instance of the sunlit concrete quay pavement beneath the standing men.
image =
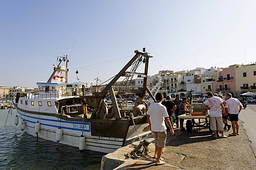
<svg viewBox="0 0 256 170">
<path fill-rule="evenodd" d="M 186 121 L 185 121 L 186 122 Z M 167 135 L 166 145 L 162 157 L 165 165 L 155 165 L 155 159 L 142 160 L 126 158 L 126 154 L 134 150 L 134 145 L 120 148 L 113 153 L 102 157 L 101 169 L 256 169 L 254 156 L 243 125 L 239 121 L 239 135 L 226 139 L 215 139 L 205 127 L 195 127 L 192 132 L 182 132 L 174 129 L 175 136 Z M 232 131 L 225 131 L 228 135 Z M 151 138 L 150 138 L 151 137 Z M 155 141 L 152 136 L 147 140 L 152 141 L 148 146 L 148 155 L 154 156 Z"/>
</svg>

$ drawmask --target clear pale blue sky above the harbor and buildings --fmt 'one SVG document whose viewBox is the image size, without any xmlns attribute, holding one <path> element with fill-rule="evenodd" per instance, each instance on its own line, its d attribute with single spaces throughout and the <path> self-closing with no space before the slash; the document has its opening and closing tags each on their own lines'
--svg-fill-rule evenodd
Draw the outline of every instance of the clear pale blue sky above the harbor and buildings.
<svg viewBox="0 0 256 170">
<path fill-rule="evenodd" d="M 0 86 L 36 87 L 57 55 L 69 81 L 108 80 L 134 56 L 149 74 L 256 62 L 256 1 L 30 1 L 0 4 Z M 111 62 L 110 62 L 111 61 Z"/>
</svg>

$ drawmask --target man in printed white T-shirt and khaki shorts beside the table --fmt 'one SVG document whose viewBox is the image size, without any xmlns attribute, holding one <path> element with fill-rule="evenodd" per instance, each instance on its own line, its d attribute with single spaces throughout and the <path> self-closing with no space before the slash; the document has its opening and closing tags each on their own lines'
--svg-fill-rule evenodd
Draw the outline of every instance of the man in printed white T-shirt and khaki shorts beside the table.
<svg viewBox="0 0 256 170">
<path fill-rule="evenodd" d="M 213 138 L 218 138 L 217 129 L 221 132 L 221 138 L 227 138 L 223 132 L 222 112 L 225 114 L 225 108 L 223 106 L 223 99 L 217 96 L 213 96 L 212 92 L 207 92 L 207 100 L 202 104 L 203 108 L 210 110 L 210 128 L 213 130 Z"/>
</svg>

